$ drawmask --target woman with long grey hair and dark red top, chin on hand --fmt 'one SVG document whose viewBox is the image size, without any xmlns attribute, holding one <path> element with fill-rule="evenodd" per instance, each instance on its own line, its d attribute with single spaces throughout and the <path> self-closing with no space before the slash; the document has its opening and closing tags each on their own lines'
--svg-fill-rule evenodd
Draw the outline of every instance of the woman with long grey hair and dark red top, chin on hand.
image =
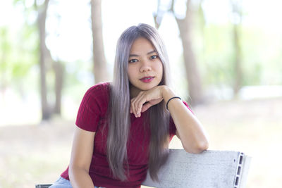
<svg viewBox="0 0 282 188">
<path fill-rule="evenodd" d="M 85 94 L 71 162 L 54 187 L 140 187 L 153 180 L 176 134 L 185 151 L 208 148 L 188 104 L 168 87 L 168 57 L 154 27 L 129 27 L 118 39 L 114 81 Z M 70 181 L 69 181 L 70 180 Z"/>
</svg>

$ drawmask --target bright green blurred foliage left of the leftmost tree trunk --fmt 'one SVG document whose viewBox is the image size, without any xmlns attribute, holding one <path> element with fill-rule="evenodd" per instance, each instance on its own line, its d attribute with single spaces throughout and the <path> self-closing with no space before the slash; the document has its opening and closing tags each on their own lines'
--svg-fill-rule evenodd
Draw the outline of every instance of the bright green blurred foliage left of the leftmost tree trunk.
<svg viewBox="0 0 282 188">
<path fill-rule="evenodd" d="M 0 27 L 0 86 L 11 87 L 19 93 L 37 90 L 39 39 L 35 8 L 27 1 L 14 0 L 13 6 L 25 17 L 24 23 L 17 27 Z M 33 17 L 33 20 L 30 19 Z M 29 91 L 30 92 L 30 91 Z"/>
</svg>

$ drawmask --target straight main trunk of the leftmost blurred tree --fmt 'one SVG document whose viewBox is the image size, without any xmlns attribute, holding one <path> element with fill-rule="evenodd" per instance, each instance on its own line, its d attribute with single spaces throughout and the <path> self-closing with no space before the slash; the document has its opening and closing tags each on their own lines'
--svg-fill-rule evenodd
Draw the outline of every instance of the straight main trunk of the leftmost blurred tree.
<svg viewBox="0 0 282 188">
<path fill-rule="evenodd" d="M 47 46 L 45 44 L 45 23 L 47 17 L 47 8 L 49 0 L 45 0 L 44 5 L 38 9 L 37 24 L 39 28 L 39 50 L 40 50 L 40 90 L 41 90 L 41 108 L 42 108 L 42 120 L 49 120 L 51 118 L 51 111 L 47 101 L 47 82 L 46 82 L 46 60 Z"/>
</svg>

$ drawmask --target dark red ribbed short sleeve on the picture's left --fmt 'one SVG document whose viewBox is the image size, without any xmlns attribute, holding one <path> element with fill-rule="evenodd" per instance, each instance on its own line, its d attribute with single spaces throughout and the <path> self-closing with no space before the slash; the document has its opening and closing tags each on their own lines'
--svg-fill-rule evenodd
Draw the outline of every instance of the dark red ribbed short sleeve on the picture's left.
<svg viewBox="0 0 282 188">
<path fill-rule="evenodd" d="M 85 93 L 75 121 L 75 124 L 82 130 L 97 131 L 99 120 L 104 115 L 105 107 L 107 108 L 104 87 L 105 84 L 97 84 L 90 87 Z"/>
</svg>

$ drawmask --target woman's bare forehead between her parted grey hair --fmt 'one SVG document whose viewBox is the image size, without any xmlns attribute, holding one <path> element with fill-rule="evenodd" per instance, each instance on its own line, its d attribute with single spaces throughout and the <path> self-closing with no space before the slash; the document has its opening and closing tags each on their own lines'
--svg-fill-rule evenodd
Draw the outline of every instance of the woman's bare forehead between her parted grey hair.
<svg viewBox="0 0 282 188">
<path fill-rule="evenodd" d="M 148 39 L 146 39 L 144 37 L 139 37 L 139 38 L 135 39 L 135 41 L 133 42 L 131 49 L 130 49 L 130 54 L 131 53 L 137 54 L 137 52 L 147 53 L 148 51 L 152 51 L 154 49 L 155 49 L 155 47 L 152 44 L 152 42 L 150 42 Z"/>
</svg>

